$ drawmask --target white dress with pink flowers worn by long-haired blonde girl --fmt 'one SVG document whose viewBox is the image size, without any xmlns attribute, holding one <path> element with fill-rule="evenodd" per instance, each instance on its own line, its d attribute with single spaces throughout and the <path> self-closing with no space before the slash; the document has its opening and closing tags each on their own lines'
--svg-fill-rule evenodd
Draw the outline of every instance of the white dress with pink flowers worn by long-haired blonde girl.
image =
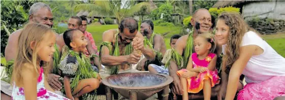
<svg viewBox="0 0 285 100">
<path fill-rule="evenodd" d="M 68 98 L 58 95 L 56 93 L 53 93 L 51 91 L 48 91 L 45 88 L 44 85 L 44 80 L 45 79 L 45 75 L 44 75 L 44 70 L 41 67 L 41 73 L 40 76 L 38 78 L 38 84 L 37 84 L 37 98 L 40 100 L 43 99 L 53 99 L 53 100 L 58 100 L 58 99 L 64 99 L 64 100 L 69 100 Z M 24 94 L 24 88 L 23 87 L 17 87 L 17 86 L 13 86 L 13 91 L 12 91 L 12 100 L 24 100 L 25 99 L 25 94 Z"/>
</svg>

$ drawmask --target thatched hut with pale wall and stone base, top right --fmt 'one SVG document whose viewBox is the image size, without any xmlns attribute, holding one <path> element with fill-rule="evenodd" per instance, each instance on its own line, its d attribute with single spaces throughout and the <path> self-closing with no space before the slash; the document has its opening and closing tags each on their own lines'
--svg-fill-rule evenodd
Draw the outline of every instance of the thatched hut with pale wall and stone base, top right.
<svg viewBox="0 0 285 100">
<path fill-rule="evenodd" d="M 249 26 L 261 34 L 285 30 L 285 1 L 218 1 L 213 8 L 228 6 L 240 8 Z"/>
</svg>

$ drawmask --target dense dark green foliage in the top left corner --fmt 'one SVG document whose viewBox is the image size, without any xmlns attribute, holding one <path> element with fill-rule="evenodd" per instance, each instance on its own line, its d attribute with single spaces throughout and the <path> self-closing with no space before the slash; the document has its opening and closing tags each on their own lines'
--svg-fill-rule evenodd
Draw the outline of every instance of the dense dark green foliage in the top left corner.
<svg viewBox="0 0 285 100">
<path fill-rule="evenodd" d="M 28 20 L 28 10 L 38 1 L 1 2 L 1 54 L 4 54 L 9 35 Z"/>
</svg>

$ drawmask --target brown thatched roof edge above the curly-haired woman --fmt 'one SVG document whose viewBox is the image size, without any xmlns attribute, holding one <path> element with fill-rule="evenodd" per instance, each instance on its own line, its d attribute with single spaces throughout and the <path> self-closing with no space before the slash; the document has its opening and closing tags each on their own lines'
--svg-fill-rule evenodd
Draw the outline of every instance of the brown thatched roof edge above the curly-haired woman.
<svg viewBox="0 0 285 100">
<path fill-rule="evenodd" d="M 259 0 L 260 1 L 260 0 Z M 227 6 L 235 6 L 239 4 L 249 3 L 249 2 L 258 2 L 258 1 L 252 1 L 252 0 L 245 0 L 245 1 L 218 1 L 213 8 L 219 8 L 219 7 L 227 7 Z"/>
</svg>

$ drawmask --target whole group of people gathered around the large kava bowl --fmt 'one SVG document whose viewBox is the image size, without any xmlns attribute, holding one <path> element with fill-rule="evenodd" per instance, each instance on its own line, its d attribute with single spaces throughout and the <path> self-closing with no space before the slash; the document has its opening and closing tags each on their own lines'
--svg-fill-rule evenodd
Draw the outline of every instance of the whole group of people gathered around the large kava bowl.
<svg viewBox="0 0 285 100">
<path fill-rule="evenodd" d="M 284 99 L 285 58 L 239 14 L 224 12 L 216 25 L 213 20 L 207 9 L 196 10 L 192 30 L 172 36 L 167 50 L 151 20 L 139 31 L 134 18 L 125 18 L 103 33 L 97 52 L 85 17 L 72 16 L 68 30 L 57 34 L 50 7 L 36 3 L 29 23 L 8 39 L 5 58 L 14 60 L 13 75 L 11 84 L 1 81 L 1 96 L 93 99 L 107 76 L 149 71 L 173 78 L 173 99 Z"/>
</svg>

